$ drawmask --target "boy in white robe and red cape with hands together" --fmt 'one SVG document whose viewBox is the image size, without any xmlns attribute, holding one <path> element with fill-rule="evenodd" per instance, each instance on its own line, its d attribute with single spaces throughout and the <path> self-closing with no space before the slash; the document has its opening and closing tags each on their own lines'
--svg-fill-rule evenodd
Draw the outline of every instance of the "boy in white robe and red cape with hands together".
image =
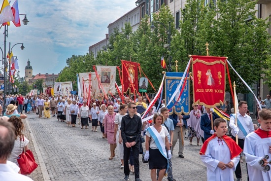
<svg viewBox="0 0 271 181">
<path fill-rule="evenodd" d="M 208 138 L 200 151 L 201 160 L 207 167 L 207 181 L 234 181 L 234 172 L 242 149 L 226 136 L 227 122 L 222 118 L 214 121 L 216 131 Z"/>
</svg>

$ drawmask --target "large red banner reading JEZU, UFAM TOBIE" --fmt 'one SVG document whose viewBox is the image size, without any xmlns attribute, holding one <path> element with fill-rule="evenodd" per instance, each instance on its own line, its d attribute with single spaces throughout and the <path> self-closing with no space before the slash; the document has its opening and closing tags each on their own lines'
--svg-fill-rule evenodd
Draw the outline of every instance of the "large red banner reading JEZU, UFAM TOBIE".
<svg viewBox="0 0 271 181">
<path fill-rule="evenodd" d="M 226 88 L 226 58 L 192 56 L 194 102 L 213 108 L 223 104 Z"/>
</svg>

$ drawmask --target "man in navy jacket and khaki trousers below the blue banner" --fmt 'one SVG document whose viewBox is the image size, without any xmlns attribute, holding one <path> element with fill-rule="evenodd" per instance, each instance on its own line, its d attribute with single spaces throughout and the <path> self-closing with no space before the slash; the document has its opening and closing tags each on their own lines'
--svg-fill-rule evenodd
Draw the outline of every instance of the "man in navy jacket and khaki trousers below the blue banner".
<svg viewBox="0 0 271 181">
<path fill-rule="evenodd" d="M 173 152 L 173 148 L 176 145 L 177 140 L 179 139 L 178 155 L 180 158 L 184 158 L 184 156 L 183 156 L 184 145 L 182 145 L 182 139 L 184 139 L 185 130 L 188 128 L 186 120 L 190 118 L 190 115 L 189 114 L 188 115 L 184 115 L 184 114 L 177 115 L 173 111 L 173 113 L 171 115 L 169 115 L 169 118 L 172 119 L 173 125 L 174 125 L 171 152 Z M 181 130 L 182 130 L 183 134 L 181 134 Z M 183 135 L 183 138 L 181 137 L 181 135 Z"/>
</svg>

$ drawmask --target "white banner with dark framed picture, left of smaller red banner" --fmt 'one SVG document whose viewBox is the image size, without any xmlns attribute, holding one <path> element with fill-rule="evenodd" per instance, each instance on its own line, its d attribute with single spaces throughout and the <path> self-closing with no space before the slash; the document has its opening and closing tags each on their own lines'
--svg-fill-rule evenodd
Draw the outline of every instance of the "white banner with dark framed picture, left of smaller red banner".
<svg viewBox="0 0 271 181">
<path fill-rule="evenodd" d="M 115 95 L 116 66 L 96 66 L 102 89 L 106 95 Z M 109 93 L 110 92 L 110 93 Z"/>
</svg>

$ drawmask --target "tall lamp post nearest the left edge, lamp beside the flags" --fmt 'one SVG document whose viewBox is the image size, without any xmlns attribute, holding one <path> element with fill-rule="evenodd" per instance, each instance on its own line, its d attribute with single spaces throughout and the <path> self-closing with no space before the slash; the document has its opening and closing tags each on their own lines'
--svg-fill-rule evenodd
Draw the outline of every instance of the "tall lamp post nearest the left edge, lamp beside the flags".
<svg viewBox="0 0 271 181">
<path fill-rule="evenodd" d="M 22 20 L 22 22 L 24 23 L 24 25 L 28 24 L 28 19 L 27 19 L 27 15 L 26 14 L 19 14 L 19 15 L 24 15 L 25 18 Z M 6 102 L 5 102 L 5 95 L 6 95 L 6 37 L 7 37 L 7 25 L 4 26 L 4 93 L 3 93 L 3 113 L 5 112 L 6 109 Z"/>
</svg>

